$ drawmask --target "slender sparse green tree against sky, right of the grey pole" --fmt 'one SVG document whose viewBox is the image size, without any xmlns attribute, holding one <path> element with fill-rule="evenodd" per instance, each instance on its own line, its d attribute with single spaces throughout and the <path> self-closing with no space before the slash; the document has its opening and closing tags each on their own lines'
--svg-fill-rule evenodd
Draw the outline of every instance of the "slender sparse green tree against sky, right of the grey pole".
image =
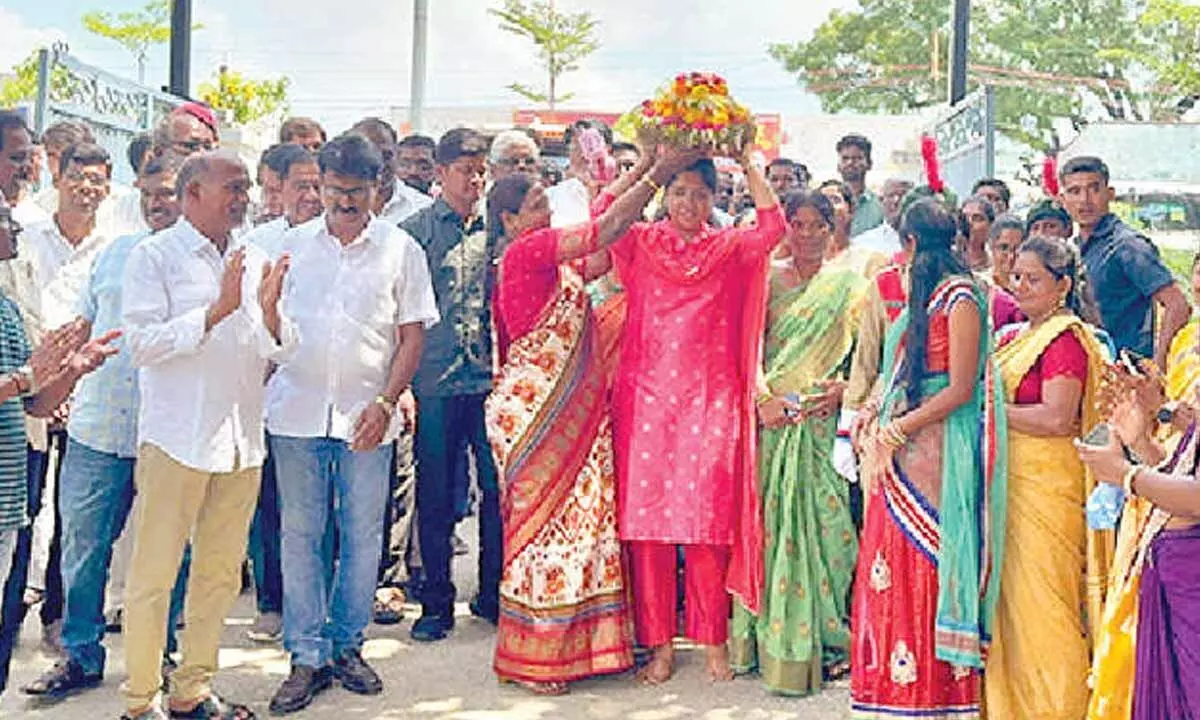
<svg viewBox="0 0 1200 720">
<path fill-rule="evenodd" d="M 590 12 L 560 12 L 553 0 L 504 0 L 500 10 L 487 11 L 500 20 L 500 29 L 524 37 L 538 47 L 538 55 L 546 68 L 546 90 L 512 83 L 509 90 L 532 102 L 545 102 L 554 109 L 558 102 L 572 94 L 558 92 L 558 79 L 580 68 L 583 60 L 600 47 L 595 38 L 599 22 Z"/>
</svg>

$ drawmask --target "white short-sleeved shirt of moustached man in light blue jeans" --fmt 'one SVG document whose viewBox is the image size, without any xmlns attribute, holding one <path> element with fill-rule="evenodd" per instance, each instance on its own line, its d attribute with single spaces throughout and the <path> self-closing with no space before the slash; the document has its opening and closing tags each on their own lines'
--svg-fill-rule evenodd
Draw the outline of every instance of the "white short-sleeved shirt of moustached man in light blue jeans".
<svg viewBox="0 0 1200 720">
<path fill-rule="evenodd" d="M 438 323 L 425 251 L 379 218 L 346 246 L 324 217 L 293 228 L 283 242 L 292 257 L 281 301 L 284 350 L 266 385 L 266 428 L 349 440 L 359 414 L 388 385 L 397 328 Z M 384 442 L 398 434 L 394 418 Z"/>
</svg>

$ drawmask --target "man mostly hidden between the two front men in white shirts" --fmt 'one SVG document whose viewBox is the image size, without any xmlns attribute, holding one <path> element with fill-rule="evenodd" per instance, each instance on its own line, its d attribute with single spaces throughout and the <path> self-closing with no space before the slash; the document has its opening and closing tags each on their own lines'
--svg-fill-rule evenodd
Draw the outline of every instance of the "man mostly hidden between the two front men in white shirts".
<svg viewBox="0 0 1200 720">
<path fill-rule="evenodd" d="M 288 250 L 284 247 L 288 230 L 305 224 L 322 212 L 320 170 L 317 158 L 300 145 L 275 145 L 266 155 L 268 164 L 277 168 L 281 178 L 280 202 L 283 215 L 247 233 L 242 242 L 257 245 L 271 262 L 277 262 Z M 332 552 L 332 541 L 330 530 L 326 556 Z M 250 529 L 250 557 L 254 569 L 258 617 L 246 636 L 254 642 L 276 642 L 283 632 L 283 575 L 280 568 L 280 491 L 275 458 L 270 451 L 270 434 L 258 508 Z"/>
</svg>

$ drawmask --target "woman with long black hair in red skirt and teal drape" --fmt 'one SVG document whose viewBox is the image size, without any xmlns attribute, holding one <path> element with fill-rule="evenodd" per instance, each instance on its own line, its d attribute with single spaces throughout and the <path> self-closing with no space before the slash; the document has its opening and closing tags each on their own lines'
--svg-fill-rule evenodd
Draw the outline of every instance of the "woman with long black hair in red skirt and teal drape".
<svg viewBox="0 0 1200 720">
<path fill-rule="evenodd" d="M 863 409 L 874 431 L 851 612 L 852 716 L 973 719 L 1000 594 L 1007 476 L 988 300 L 953 250 L 955 221 L 940 203 L 912 205 L 900 235 L 916 241 L 907 310 L 888 329 L 883 396 Z"/>
</svg>

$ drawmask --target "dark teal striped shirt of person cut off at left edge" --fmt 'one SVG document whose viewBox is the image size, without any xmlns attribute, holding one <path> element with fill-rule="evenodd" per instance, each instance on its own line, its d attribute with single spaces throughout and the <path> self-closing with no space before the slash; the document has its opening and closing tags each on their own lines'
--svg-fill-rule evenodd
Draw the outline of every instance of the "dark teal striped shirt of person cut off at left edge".
<svg viewBox="0 0 1200 720">
<path fill-rule="evenodd" d="M 0 295 L 0 373 L 14 372 L 26 362 L 29 341 L 20 310 Z M 25 472 L 25 407 L 19 397 L 10 397 L 0 403 L 0 532 L 29 522 Z"/>
</svg>

